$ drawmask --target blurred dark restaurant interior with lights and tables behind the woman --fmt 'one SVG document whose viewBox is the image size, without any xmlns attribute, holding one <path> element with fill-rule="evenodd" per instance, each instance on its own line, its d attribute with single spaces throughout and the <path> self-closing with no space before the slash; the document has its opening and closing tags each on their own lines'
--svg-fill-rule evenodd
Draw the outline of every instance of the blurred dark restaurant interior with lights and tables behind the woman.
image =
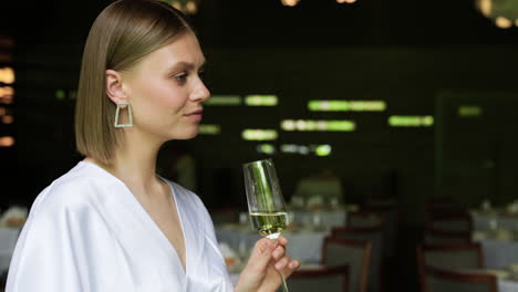
<svg viewBox="0 0 518 292">
<path fill-rule="evenodd" d="M 111 2 L 0 3 L 1 289 L 35 197 L 84 158 L 82 51 Z M 290 290 L 518 291 L 518 1 L 166 2 L 211 97 L 157 171 L 203 200 L 230 278 L 260 238 L 242 165 L 270 158 Z"/>
</svg>

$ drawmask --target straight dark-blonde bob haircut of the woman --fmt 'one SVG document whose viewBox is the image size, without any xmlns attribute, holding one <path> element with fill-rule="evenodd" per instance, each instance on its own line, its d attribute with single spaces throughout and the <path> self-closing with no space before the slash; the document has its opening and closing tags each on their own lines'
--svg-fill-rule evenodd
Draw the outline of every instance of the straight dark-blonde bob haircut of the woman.
<svg viewBox="0 0 518 292">
<path fill-rule="evenodd" d="M 127 71 L 186 32 L 194 33 L 186 17 L 158 0 L 120 0 L 99 14 L 84 48 L 75 104 L 79 153 L 110 165 L 124 135 L 113 125 L 116 105 L 106 94 L 106 70 Z"/>
</svg>

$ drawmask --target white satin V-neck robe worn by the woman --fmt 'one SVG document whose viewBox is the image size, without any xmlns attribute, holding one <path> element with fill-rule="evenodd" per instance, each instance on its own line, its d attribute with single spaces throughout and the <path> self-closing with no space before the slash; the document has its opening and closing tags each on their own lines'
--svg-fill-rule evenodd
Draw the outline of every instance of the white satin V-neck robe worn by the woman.
<svg viewBox="0 0 518 292">
<path fill-rule="evenodd" d="M 6 291 L 232 291 L 201 200 L 167 184 L 184 231 L 186 271 L 130 189 L 103 168 L 81 161 L 35 199 Z"/>
</svg>

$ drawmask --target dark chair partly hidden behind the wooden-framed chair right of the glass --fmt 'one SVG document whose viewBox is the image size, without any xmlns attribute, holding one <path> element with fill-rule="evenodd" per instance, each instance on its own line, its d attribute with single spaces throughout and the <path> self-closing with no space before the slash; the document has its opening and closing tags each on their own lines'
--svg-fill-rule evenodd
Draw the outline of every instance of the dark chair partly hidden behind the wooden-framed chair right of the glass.
<svg viewBox="0 0 518 292">
<path fill-rule="evenodd" d="M 335 239 L 361 240 L 371 242 L 371 261 L 369 264 L 369 291 L 381 291 L 383 277 L 383 228 L 352 228 L 339 227 L 331 230 L 331 237 Z"/>
</svg>

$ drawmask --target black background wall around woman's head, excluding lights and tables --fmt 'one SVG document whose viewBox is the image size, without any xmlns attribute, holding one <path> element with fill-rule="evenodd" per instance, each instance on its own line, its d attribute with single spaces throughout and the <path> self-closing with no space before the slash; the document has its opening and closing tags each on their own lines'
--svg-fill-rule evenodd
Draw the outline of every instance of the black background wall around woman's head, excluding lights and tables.
<svg viewBox="0 0 518 292">
<path fill-rule="evenodd" d="M 15 145 L 0 148 L 1 207 L 30 206 L 81 157 L 74 149 L 73 91 L 90 25 L 111 1 L 2 1 L 0 34 L 10 35 L 15 69 L 14 123 L 0 125 Z M 240 164 L 266 157 L 244 128 L 278 128 L 281 144 L 330 144 L 329 157 L 273 155 L 284 196 L 299 178 L 333 169 L 344 200 L 391 196 L 403 222 L 423 223 L 424 201 L 453 195 L 465 206 L 507 204 L 515 182 L 514 112 L 518 29 L 498 29 L 457 1 L 205 0 L 193 18 L 209 61 L 213 94 L 277 94 L 276 107 L 207 107 L 218 136 L 186 145 L 197 161 L 199 195 L 209 209 L 244 208 Z M 65 98 L 55 97 L 56 90 Z M 311 113 L 308 100 L 383 100 L 382 113 Z M 460 118 L 459 105 L 480 117 Z M 394 128 L 390 115 L 433 115 L 433 127 Z M 353 133 L 287 133 L 284 118 L 350 118 Z M 176 142 L 170 143 L 174 147 Z M 160 161 L 167 164 L 167 160 Z"/>
</svg>

